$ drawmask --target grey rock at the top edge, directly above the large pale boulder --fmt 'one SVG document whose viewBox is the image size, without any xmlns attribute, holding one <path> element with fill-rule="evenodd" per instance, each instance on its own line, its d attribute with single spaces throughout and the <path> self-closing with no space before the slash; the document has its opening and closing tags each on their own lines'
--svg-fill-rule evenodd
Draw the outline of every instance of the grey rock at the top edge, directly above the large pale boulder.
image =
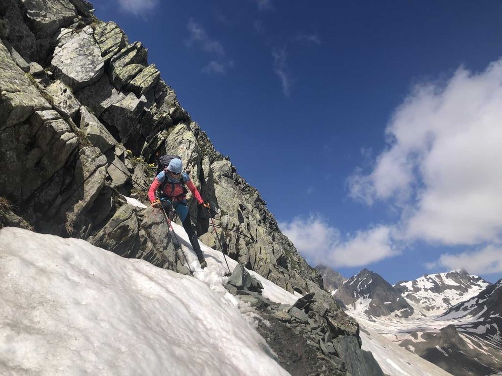
<svg viewBox="0 0 502 376">
<path fill-rule="evenodd" d="M 59 28 L 71 25 L 77 15 L 73 5 L 64 0 L 21 1 L 39 38 L 51 37 Z"/>
</svg>

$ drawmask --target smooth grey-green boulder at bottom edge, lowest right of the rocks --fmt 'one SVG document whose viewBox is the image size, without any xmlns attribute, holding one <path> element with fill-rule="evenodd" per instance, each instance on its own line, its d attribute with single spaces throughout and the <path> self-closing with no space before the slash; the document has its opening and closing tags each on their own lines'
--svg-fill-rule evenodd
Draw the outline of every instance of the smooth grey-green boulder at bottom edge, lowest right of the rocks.
<svg viewBox="0 0 502 376">
<path fill-rule="evenodd" d="M 342 335 L 333 340 L 333 345 L 353 376 L 384 376 L 373 354 L 359 348 L 357 338 Z"/>
</svg>

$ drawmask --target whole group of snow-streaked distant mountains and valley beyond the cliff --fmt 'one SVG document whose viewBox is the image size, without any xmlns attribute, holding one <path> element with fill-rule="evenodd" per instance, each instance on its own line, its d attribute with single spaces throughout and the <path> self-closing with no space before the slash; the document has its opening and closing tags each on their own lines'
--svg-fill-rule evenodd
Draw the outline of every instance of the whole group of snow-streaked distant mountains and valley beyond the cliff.
<svg viewBox="0 0 502 376">
<path fill-rule="evenodd" d="M 396 314 L 398 297 L 413 314 Z M 502 280 L 491 285 L 460 270 L 401 281 L 390 288 L 381 276 L 363 269 L 335 298 L 361 328 L 451 374 L 484 376 L 502 371 Z"/>
</svg>

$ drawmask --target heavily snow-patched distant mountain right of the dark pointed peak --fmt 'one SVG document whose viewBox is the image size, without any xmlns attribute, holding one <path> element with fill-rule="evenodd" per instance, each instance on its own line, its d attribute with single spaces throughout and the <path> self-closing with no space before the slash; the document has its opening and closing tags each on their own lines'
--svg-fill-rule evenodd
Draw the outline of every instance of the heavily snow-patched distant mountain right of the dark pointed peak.
<svg viewBox="0 0 502 376">
<path fill-rule="evenodd" d="M 475 296 L 490 283 L 465 270 L 429 274 L 413 281 L 401 281 L 394 285 L 416 311 L 423 315 L 443 313 L 446 309 Z"/>
</svg>

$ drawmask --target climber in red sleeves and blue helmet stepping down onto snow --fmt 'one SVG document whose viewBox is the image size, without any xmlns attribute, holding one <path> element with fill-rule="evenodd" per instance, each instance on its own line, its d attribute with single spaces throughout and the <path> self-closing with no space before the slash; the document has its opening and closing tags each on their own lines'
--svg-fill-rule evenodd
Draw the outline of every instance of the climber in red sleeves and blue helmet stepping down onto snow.
<svg viewBox="0 0 502 376">
<path fill-rule="evenodd" d="M 167 168 L 155 177 L 148 190 L 148 198 L 153 207 L 158 207 L 160 204 L 166 213 L 171 211 L 171 206 L 176 210 L 178 217 L 183 223 L 183 228 L 188 235 L 188 239 L 190 239 L 190 244 L 199 259 L 200 267 L 205 268 L 207 263 L 200 249 L 197 234 L 190 223 L 190 216 L 188 215 L 186 201 L 188 190 L 185 185 L 188 186 L 199 205 L 202 205 L 206 209 L 209 208 L 209 203 L 202 200 L 199 191 L 197 191 L 192 180 L 190 180 L 190 176 L 183 171 L 183 163 L 179 158 L 172 159 Z M 160 190 L 160 199 L 155 198 L 157 190 Z"/>
</svg>

